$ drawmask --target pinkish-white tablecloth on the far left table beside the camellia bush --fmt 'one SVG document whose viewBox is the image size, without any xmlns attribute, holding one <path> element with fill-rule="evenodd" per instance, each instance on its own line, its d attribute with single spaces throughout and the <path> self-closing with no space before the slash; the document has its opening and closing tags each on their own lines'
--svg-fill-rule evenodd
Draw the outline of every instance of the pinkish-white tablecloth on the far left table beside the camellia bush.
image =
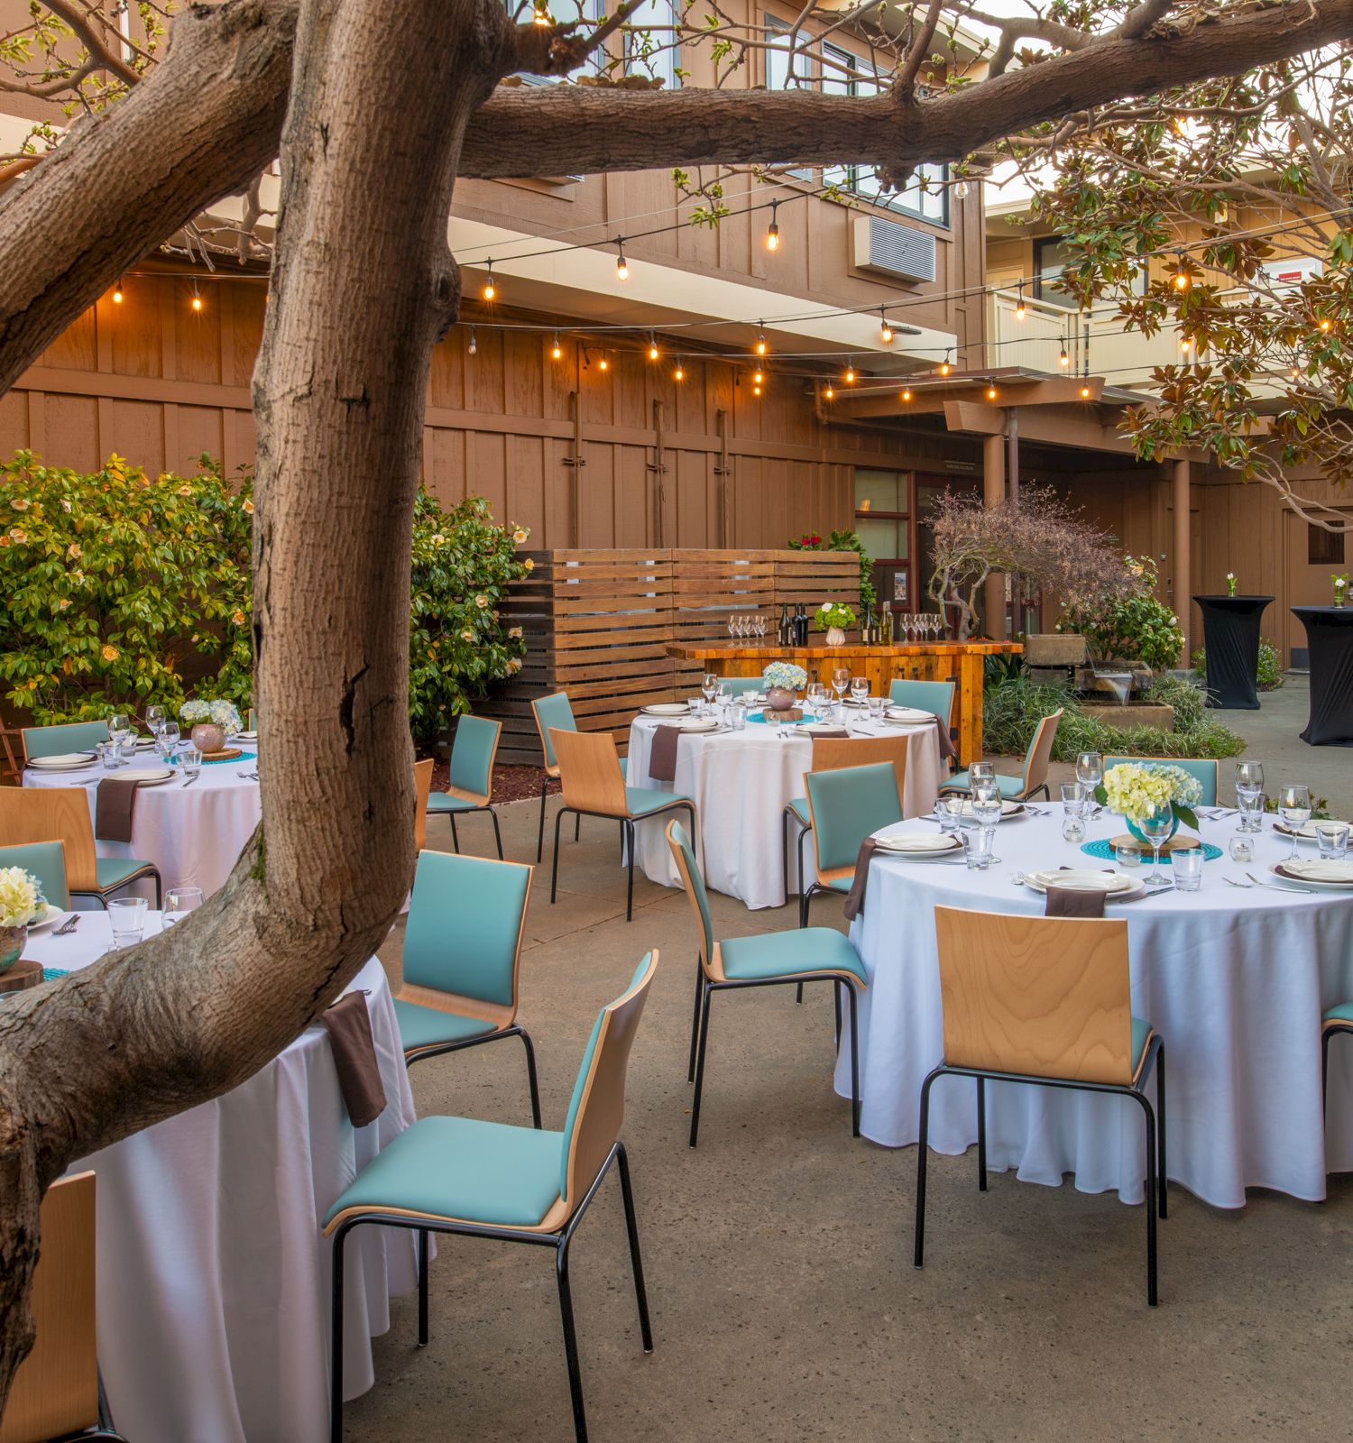
<svg viewBox="0 0 1353 1443">
<path fill-rule="evenodd" d="M 257 746 L 241 747 L 245 753 Z M 89 794 L 89 815 L 94 815 L 97 782 L 102 776 L 131 776 L 133 768 L 163 768 L 153 752 L 138 752 L 130 766 L 104 772 L 94 766 L 79 772 L 23 773 L 25 786 L 85 786 Z M 164 782 L 163 786 L 138 786 L 131 812 L 131 841 L 97 841 L 101 857 L 138 857 L 160 869 L 164 890 L 170 887 L 202 887 L 211 896 L 225 885 L 231 867 L 239 860 L 245 843 L 263 817 L 258 782 L 241 776 L 258 768 L 258 758 L 212 762 L 202 768 L 202 776 L 192 786 Z M 153 896 L 153 887 L 137 887 Z"/>
</svg>

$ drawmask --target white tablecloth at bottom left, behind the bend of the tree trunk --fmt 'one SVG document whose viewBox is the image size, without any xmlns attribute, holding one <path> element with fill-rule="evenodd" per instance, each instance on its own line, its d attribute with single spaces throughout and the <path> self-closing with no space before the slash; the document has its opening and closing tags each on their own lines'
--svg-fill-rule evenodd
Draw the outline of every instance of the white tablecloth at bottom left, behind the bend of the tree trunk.
<svg viewBox="0 0 1353 1443">
<path fill-rule="evenodd" d="M 151 913 L 151 928 L 157 928 Z M 104 913 L 25 955 L 74 971 L 110 945 Z M 353 1128 L 322 1026 L 213 1102 L 76 1163 L 98 1175 L 98 1361 L 120 1431 L 137 1443 L 323 1443 L 329 1437 L 325 1212 L 410 1123 L 414 1100 L 385 971 L 365 988 L 387 1107 Z M 353 1250 L 356 1250 L 353 1253 Z M 414 1234 L 348 1244 L 343 1384 L 374 1381 L 388 1299 L 417 1284 Z"/>
</svg>

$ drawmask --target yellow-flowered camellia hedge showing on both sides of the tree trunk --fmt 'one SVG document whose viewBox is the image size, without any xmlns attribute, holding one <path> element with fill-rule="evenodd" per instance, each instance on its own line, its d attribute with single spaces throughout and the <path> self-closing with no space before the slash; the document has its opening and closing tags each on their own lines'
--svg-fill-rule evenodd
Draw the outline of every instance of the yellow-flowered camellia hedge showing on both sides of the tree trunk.
<svg viewBox="0 0 1353 1443">
<path fill-rule="evenodd" d="M 91 475 L 19 452 L 0 472 L 0 684 L 38 726 L 190 696 L 251 706 L 252 482 L 202 456 L 192 476 L 151 479 L 120 456 Z M 522 527 L 472 496 L 414 514 L 410 726 L 423 743 L 521 670 L 502 620 Z"/>
</svg>

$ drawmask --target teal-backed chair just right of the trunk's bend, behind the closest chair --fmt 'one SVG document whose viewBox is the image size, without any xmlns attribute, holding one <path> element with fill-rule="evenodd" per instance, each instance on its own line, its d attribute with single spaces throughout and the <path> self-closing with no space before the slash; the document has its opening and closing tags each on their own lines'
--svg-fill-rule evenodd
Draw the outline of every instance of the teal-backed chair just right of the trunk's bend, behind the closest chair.
<svg viewBox="0 0 1353 1443">
<path fill-rule="evenodd" d="M 521 1038 L 531 1117 L 539 1127 L 535 1049 L 531 1035 L 516 1023 L 529 898 L 531 869 L 518 861 L 418 853 L 395 1017 L 408 1066 L 482 1042 Z"/>
</svg>

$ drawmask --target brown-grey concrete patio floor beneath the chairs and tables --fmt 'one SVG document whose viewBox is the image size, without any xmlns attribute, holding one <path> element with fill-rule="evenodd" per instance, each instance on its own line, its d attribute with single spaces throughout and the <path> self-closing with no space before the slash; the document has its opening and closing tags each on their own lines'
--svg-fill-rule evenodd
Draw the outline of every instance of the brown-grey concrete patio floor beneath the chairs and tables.
<svg viewBox="0 0 1353 1443">
<path fill-rule="evenodd" d="M 1295 739 L 1304 683 L 1228 713 L 1271 763 L 1349 815 L 1353 758 Z M 1010 768 L 1013 769 L 1013 768 Z M 1223 776 L 1228 768 L 1223 763 Z M 503 808 L 508 856 L 535 856 L 532 804 Z M 449 847 L 434 823 L 430 846 Z M 488 850 L 485 820 L 462 827 Z M 792 909 L 715 899 L 727 932 L 795 925 Z M 842 925 L 824 902 L 814 921 Z M 401 934 L 382 958 L 398 980 Z M 685 898 L 636 882 L 625 924 L 614 828 L 564 848 L 560 900 L 537 876 L 521 1022 L 560 1127 L 597 1007 L 648 948 L 662 962 L 629 1074 L 629 1144 L 656 1351 L 639 1346 L 619 1186 L 574 1244 L 574 1307 L 594 1443 L 715 1440 L 1346 1439 L 1353 1335 L 1353 1179 L 1323 1205 L 1251 1195 L 1239 1212 L 1181 1189 L 1161 1225 L 1161 1306 L 1144 1300 L 1144 1216 L 932 1157 L 927 1261 L 910 1260 L 916 1150 L 850 1136 L 831 1089 L 831 1003 L 790 988 L 714 1004 L 700 1147 L 685 1144 L 694 924 Z M 514 1042 L 413 1071 L 421 1113 L 528 1123 Z M 571 1439 L 545 1250 L 443 1240 L 431 1343 L 413 1299 L 375 1342 L 376 1385 L 349 1440 Z"/>
</svg>

